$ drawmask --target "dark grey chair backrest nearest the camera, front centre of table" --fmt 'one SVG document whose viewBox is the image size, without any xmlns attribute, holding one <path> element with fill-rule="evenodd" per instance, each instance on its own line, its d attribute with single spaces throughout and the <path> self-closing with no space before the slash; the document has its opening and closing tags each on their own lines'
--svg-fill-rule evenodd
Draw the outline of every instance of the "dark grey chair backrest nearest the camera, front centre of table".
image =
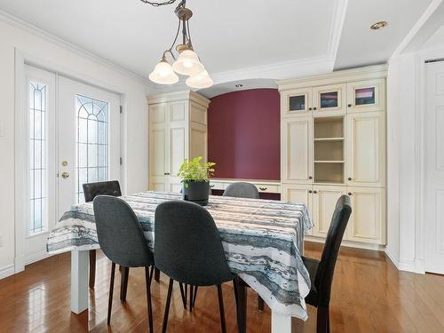
<svg viewBox="0 0 444 333">
<path fill-rule="evenodd" d="M 218 228 L 194 202 L 163 202 L 155 210 L 155 266 L 172 279 L 210 286 L 234 279 Z"/>
</svg>

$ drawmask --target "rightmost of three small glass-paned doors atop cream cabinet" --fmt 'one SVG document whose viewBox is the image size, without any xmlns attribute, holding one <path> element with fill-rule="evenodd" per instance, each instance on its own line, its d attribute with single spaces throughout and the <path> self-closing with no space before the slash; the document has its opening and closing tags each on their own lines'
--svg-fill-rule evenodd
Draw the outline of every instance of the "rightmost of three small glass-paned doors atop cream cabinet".
<svg viewBox="0 0 444 333">
<path fill-rule="evenodd" d="M 369 80 L 347 84 L 348 112 L 384 109 L 385 80 Z"/>
</svg>

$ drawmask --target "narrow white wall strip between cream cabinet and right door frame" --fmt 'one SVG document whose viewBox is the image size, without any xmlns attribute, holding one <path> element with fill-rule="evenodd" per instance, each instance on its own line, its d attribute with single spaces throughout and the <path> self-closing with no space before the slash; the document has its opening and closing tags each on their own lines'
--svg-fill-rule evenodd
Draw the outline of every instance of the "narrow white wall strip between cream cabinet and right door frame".
<svg viewBox="0 0 444 333">
<path fill-rule="evenodd" d="M 415 260 L 415 63 L 414 53 L 400 55 L 388 73 L 386 252 L 405 270 Z"/>
</svg>

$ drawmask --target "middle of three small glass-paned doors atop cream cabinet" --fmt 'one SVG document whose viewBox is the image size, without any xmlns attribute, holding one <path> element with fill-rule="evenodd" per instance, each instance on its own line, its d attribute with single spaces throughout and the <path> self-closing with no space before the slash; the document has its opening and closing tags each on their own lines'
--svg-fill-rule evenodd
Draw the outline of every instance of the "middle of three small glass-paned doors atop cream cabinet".
<svg viewBox="0 0 444 333">
<path fill-rule="evenodd" d="M 313 88 L 313 115 L 344 115 L 345 84 Z"/>
</svg>

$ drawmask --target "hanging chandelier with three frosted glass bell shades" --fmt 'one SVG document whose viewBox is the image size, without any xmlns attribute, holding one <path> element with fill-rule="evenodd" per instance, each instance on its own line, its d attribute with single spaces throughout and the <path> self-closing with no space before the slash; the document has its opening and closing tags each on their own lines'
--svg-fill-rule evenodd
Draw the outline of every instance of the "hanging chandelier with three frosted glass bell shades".
<svg viewBox="0 0 444 333">
<path fill-rule="evenodd" d="M 165 4 L 173 4 L 176 0 L 168 0 L 165 2 L 151 2 L 148 0 L 140 1 L 144 4 L 151 4 L 158 7 Z M 193 16 L 193 12 L 186 8 L 186 0 L 182 0 L 174 12 L 178 17 L 178 30 L 176 36 L 174 37 L 174 41 L 170 48 L 163 52 L 161 61 L 155 65 L 155 69 L 149 75 L 149 79 L 154 83 L 173 84 L 178 83 L 178 74 L 187 75 L 186 85 L 190 88 L 208 88 L 213 85 L 213 80 L 211 80 L 210 75 L 208 75 L 205 67 L 203 67 L 201 60 L 194 52 L 193 44 L 191 42 L 188 21 Z M 173 53 L 173 48 L 178 41 L 180 31 L 182 31 L 182 41 L 181 44 L 176 46 L 176 51 L 178 52 L 178 57 L 176 58 Z M 172 66 L 167 59 L 168 55 L 174 59 Z"/>
</svg>

